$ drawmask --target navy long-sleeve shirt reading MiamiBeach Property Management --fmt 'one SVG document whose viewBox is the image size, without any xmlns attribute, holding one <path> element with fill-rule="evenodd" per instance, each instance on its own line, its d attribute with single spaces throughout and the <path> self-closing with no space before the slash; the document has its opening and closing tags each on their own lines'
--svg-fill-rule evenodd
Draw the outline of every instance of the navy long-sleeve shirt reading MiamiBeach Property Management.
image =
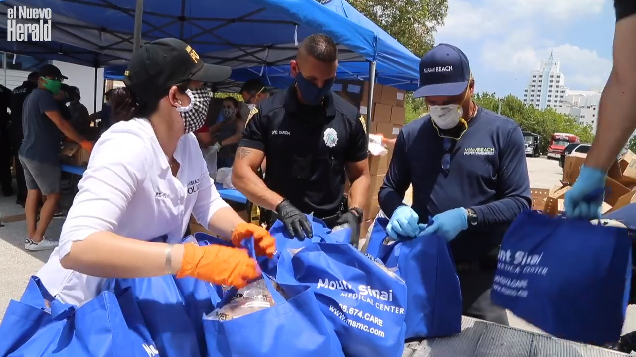
<svg viewBox="0 0 636 357">
<path fill-rule="evenodd" d="M 457 137 L 459 133 L 445 133 Z M 530 206 L 530 180 L 525 142 L 512 119 L 480 107 L 460 140 L 452 140 L 450 167 L 441 167 L 446 150 L 431 116 L 404 126 L 398 135 L 384 184 L 378 193 L 380 208 L 391 217 L 403 205 L 413 184 L 413 210 L 426 223 L 429 216 L 463 207 L 477 213 L 451 242 L 456 262 L 492 252 L 506 229 Z"/>
</svg>

